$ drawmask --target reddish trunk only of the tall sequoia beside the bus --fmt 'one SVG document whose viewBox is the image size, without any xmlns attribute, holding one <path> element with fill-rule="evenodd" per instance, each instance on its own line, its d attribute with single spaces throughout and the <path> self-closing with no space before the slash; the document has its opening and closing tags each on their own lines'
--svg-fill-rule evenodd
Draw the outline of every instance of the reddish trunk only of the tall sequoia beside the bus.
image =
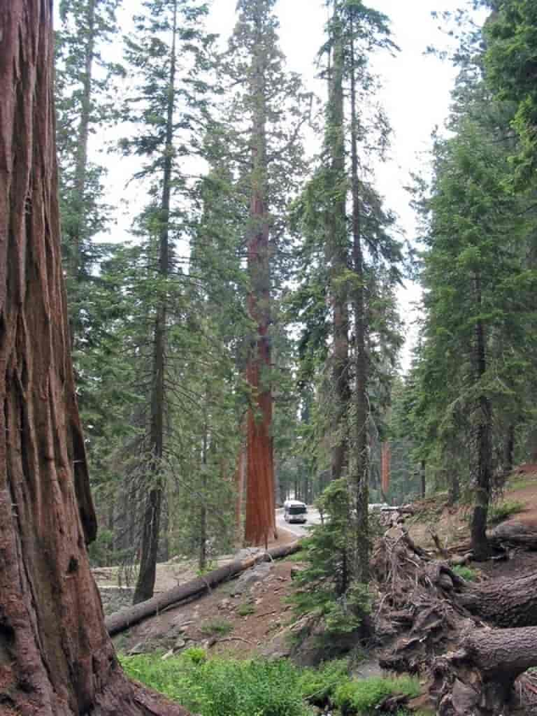
<svg viewBox="0 0 537 716">
<path fill-rule="evenodd" d="M 253 50 L 251 92 L 253 128 L 251 135 L 252 174 L 250 229 L 248 236 L 248 314 L 256 324 L 248 357 L 246 379 L 251 388 L 253 405 L 248 410 L 248 480 L 246 495 L 245 541 L 265 545 L 276 531 L 274 515 L 274 456 L 271 436 L 271 266 L 269 248 L 269 213 L 267 210 L 266 149 L 266 71 L 263 57 L 263 23 L 256 20 L 257 40 Z"/>
</svg>

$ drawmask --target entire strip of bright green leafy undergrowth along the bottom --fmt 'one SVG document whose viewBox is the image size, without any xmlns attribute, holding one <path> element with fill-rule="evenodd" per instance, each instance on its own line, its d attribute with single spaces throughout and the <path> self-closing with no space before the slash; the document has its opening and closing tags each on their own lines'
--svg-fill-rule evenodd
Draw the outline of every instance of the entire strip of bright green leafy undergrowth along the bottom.
<svg viewBox="0 0 537 716">
<path fill-rule="evenodd" d="M 328 703 L 344 715 L 380 716 L 386 697 L 420 693 L 411 677 L 354 681 L 344 660 L 299 669 L 285 660 L 207 659 L 202 649 L 190 649 L 165 660 L 145 654 L 121 662 L 130 677 L 201 716 L 308 716 L 314 705 Z"/>
</svg>

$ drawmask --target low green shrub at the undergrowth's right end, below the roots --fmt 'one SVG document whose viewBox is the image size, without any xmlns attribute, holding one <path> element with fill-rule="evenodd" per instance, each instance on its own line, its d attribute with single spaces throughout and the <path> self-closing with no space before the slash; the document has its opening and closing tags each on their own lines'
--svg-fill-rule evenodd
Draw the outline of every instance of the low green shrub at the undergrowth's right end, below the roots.
<svg viewBox="0 0 537 716">
<path fill-rule="evenodd" d="M 367 716 L 385 698 L 405 694 L 409 698 L 420 695 L 420 682 L 412 677 L 372 677 L 362 681 L 347 681 L 337 688 L 334 703 L 343 714 Z"/>
</svg>

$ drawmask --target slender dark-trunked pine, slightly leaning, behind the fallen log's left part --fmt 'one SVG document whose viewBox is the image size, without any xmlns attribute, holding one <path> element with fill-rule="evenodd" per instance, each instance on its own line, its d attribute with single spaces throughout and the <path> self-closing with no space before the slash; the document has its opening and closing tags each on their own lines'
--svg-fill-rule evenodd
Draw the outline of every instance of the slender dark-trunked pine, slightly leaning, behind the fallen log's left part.
<svg viewBox="0 0 537 716">
<path fill-rule="evenodd" d="M 142 232 L 149 239 L 150 302 L 146 306 L 150 336 L 148 415 L 142 458 L 147 498 L 142 520 L 140 571 L 135 602 L 153 596 L 165 488 L 165 441 L 169 433 L 167 395 L 171 375 L 168 326 L 180 286 L 173 245 L 184 217 L 178 200 L 189 188 L 180 161 L 193 153 L 196 118 L 203 114 L 207 85 L 207 48 L 200 20 L 205 4 L 187 0 L 147 0 L 136 18 L 137 35 L 127 40 L 127 61 L 140 78 L 135 97 L 127 98 L 127 116 L 139 127 L 122 142 L 127 152 L 145 158 L 138 179 L 150 185 L 150 205 L 142 213 Z"/>
</svg>

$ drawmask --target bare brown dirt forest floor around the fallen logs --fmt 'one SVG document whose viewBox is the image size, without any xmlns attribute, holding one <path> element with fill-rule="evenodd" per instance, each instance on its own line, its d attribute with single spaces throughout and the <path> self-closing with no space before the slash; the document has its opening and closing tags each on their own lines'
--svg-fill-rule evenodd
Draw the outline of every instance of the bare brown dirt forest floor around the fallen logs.
<svg viewBox="0 0 537 716">
<path fill-rule="evenodd" d="M 446 549 L 468 545 L 470 507 L 446 506 L 447 495 L 435 495 L 415 503 L 415 516 L 407 520 L 410 536 L 423 548 L 435 551 L 431 531 Z M 521 503 L 515 505 L 514 503 Z M 537 465 L 523 465 L 508 479 L 495 505 L 510 505 L 516 513 L 509 520 L 537 527 Z M 276 544 L 294 541 L 296 536 L 279 531 Z M 231 560 L 221 559 L 218 564 Z M 289 603 L 291 571 L 299 569 L 294 556 L 278 562 L 261 563 L 238 579 L 213 589 L 200 599 L 170 607 L 115 637 L 122 652 L 171 652 L 203 646 L 211 654 L 248 658 L 256 654 L 289 655 L 289 625 L 296 616 Z M 215 565 L 216 566 L 216 565 Z M 516 576 L 537 569 L 537 553 L 517 551 L 508 561 L 469 563 L 478 579 Z M 112 568 L 95 570 L 100 585 L 115 583 Z M 196 576 L 192 563 L 171 561 L 158 566 L 158 590 L 168 589 Z"/>
</svg>

